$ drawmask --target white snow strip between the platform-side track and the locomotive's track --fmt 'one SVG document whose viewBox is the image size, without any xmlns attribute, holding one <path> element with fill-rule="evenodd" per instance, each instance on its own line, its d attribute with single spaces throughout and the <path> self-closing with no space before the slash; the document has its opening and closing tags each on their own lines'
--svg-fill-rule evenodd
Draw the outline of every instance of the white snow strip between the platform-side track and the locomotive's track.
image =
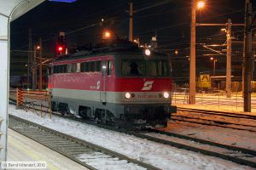
<svg viewBox="0 0 256 170">
<path fill-rule="evenodd" d="M 224 161 L 216 157 L 205 156 L 188 150 L 180 150 L 165 144 L 157 144 L 125 133 L 113 132 L 58 116 L 52 116 L 51 120 L 49 116 L 42 118 L 34 115 L 32 112 L 15 110 L 14 105 L 9 105 L 9 114 L 20 116 L 45 127 L 50 127 L 62 133 L 67 133 L 79 139 L 101 145 L 109 150 L 114 150 L 131 158 L 144 161 L 160 169 L 252 169 L 251 167 L 241 166 L 231 161 Z"/>
</svg>

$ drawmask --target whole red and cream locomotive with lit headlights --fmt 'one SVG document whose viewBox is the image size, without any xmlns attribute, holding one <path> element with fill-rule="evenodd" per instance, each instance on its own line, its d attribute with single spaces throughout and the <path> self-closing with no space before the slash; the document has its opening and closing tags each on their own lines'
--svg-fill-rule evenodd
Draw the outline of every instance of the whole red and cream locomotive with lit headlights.
<svg viewBox="0 0 256 170">
<path fill-rule="evenodd" d="M 166 126 L 171 105 L 171 65 L 166 54 L 112 42 L 80 50 L 49 65 L 52 108 L 119 127 Z"/>
</svg>

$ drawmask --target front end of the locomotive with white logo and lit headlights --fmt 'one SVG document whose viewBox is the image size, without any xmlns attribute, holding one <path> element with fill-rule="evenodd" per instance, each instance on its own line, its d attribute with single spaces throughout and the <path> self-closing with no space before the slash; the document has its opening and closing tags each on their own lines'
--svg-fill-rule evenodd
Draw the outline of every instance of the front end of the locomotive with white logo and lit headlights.
<svg viewBox="0 0 256 170">
<path fill-rule="evenodd" d="M 135 126 L 166 126 L 172 112 L 176 112 L 171 105 L 172 71 L 167 55 L 126 54 L 117 63 L 120 121 Z"/>
</svg>

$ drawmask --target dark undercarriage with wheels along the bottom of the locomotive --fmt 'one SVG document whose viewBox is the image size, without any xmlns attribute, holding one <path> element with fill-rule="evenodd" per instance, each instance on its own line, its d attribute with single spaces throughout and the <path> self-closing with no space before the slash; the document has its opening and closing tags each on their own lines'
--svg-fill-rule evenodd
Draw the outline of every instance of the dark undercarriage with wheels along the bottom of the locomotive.
<svg viewBox="0 0 256 170">
<path fill-rule="evenodd" d="M 57 111 L 62 114 L 72 113 L 96 122 L 117 124 L 120 127 L 162 125 L 166 126 L 171 117 L 169 104 L 109 104 L 79 99 L 54 99 L 58 105 Z M 67 105 L 68 104 L 68 105 Z"/>
</svg>

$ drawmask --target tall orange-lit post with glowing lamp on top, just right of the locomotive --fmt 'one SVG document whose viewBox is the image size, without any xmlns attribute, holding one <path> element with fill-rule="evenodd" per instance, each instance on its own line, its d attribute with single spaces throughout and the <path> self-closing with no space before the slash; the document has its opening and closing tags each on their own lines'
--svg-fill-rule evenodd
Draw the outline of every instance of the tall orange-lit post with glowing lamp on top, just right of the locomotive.
<svg viewBox="0 0 256 170">
<path fill-rule="evenodd" d="M 189 58 L 189 104 L 195 104 L 195 14 L 196 8 L 204 7 L 204 2 L 191 0 L 191 34 Z"/>
</svg>

